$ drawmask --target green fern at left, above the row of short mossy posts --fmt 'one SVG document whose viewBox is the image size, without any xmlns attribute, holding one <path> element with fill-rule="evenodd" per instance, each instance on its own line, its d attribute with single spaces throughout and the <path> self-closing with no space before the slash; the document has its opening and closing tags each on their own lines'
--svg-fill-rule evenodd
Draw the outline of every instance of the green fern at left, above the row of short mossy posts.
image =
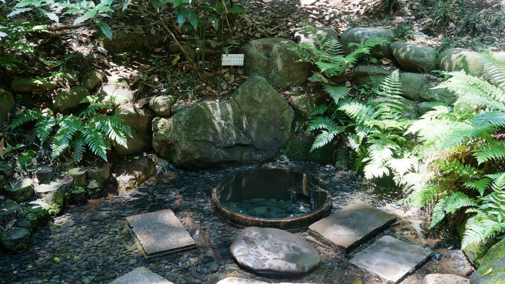
<svg viewBox="0 0 505 284">
<path fill-rule="evenodd" d="M 90 103 L 78 116 L 53 114 L 50 110 L 25 110 L 12 122 L 15 129 L 27 122 L 36 121 L 35 133 L 41 145 L 51 140 L 51 160 L 62 156 L 66 150 L 72 150 L 72 161 L 82 159 L 86 147 L 98 157 L 107 161 L 107 150 L 111 142 L 123 147 L 126 136 L 131 137 L 129 126 L 123 120 L 100 114 L 100 110 L 110 106 L 97 103 L 95 98 L 87 97 L 81 103 Z"/>
</svg>

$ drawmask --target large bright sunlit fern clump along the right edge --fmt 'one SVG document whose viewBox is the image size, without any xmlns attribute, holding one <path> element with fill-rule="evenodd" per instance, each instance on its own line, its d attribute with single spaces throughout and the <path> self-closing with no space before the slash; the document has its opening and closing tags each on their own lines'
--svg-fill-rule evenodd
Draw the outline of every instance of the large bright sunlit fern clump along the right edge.
<svg viewBox="0 0 505 284">
<path fill-rule="evenodd" d="M 434 176 L 421 183 L 406 180 L 414 188 L 411 204 L 434 204 L 430 227 L 463 208 L 476 213 L 467 223 L 463 247 L 505 231 L 505 176 L 492 173 L 505 159 L 505 142 L 496 135 L 505 126 L 505 64 L 484 56 L 480 60 L 490 82 L 450 72 L 438 88 L 458 95 L 454 108 L 436 106 L 408 130 L 423 143 L 417 149 L 423 156 L 455 149 L 467 153 L 453 161 L 439 159 Z"/>
</svg>

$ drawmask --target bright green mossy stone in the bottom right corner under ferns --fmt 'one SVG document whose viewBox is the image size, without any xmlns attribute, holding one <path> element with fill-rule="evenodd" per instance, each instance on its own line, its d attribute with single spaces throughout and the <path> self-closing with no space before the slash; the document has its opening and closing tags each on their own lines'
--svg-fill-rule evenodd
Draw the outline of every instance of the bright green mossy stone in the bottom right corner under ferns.
<svg viewBox="0 0 505 284">
<path fill-rule="evenodd" d="M 487 273 L 489 269 L 492 270 Z M 482 258 L 472 283 L 505 284 L 505 239 L 492 246 Z"/>
</svg>

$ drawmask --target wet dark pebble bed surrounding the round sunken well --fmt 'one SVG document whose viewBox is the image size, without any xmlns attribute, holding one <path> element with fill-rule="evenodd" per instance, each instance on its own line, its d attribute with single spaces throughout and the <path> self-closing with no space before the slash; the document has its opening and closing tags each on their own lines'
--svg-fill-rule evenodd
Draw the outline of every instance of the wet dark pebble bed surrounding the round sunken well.
<svg viewBox="0 0 505 284">
<path fill-rule="evenodd" d="M 293 169 L 323 181 L 332 193 L 333 212 L 354 199 L 377 199 L 374 191 L 361 184 L 361 178 L 352 172 L 301 163 L 265 166 Z M 0 282 L 108 283 L 139 266 L 176 284 L 214 284 L 229 276 L 271 281 L 243 271 L 233 262 L 229 247 L 240 229 L 221 222 L 210 204 L 212 188 L 221 177 L 247 168 L 250 167 L 151 177 L 130 194 L 109 195 L 85 206 L 72 206 L 65 215 L 54 218 L 34 233 L 30 252 L 20 255 L 0 252 Z M 172 209 L 176 213 L 196 240 L 197 248 L 145 259 L 125 229 L 126 217 L 162 209 Z M 426 239 L 423 235 L 419 227 L 420 219 L 424 218 L 421 212 L 405 213 L 390 204 L 382 209 L 398 214 L 398 222 L 347 255 L 318 247 L 323 261 L 313 272 L 298 279 L 275 281 L 350 284 L 360 278 L 365 283 L 376 283 L 347 265 L 347 260 L 385 234 L 421 246 L 426 244 L 431 249 L 440 241 Z M 307 231 L 297 233 L 301 237 L 307 234 Z M 440 248 L 435 249 L 442 254 L 440 261 L 430 259 L 402 283 L 421 283 L 427 273 L 465 275 L 470 266 L 461 251 L 448 247 L 451 242 L 442 240 Z"/>
</svg>

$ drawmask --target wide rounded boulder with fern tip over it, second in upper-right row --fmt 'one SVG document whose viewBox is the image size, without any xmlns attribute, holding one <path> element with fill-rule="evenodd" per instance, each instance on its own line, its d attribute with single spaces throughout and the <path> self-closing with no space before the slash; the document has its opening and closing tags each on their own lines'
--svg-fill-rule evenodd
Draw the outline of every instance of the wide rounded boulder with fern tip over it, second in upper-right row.
<svg viewBox="0 0 505 284">
<path fill-rule="evenodd" d="M 350 54 L 356 49 L 356 46 L 350 46 L 349 43 L 364 43 L 370 38 L 373 37 L 384 37 L 389 41 L 393 41 L 395 38 L 395 34 L 392 30 L 383 29 L 383 28 L 350 28 L 346 29 L 342 35 L 340 36 L 340 43 L 342 43 L 342 48 L 346 55 Z M 382 46 L 375 46 L 372 49 L 371 54 L 376 58 L 390 57 L 391 44 L 384 44 Z"/>
</svg>

